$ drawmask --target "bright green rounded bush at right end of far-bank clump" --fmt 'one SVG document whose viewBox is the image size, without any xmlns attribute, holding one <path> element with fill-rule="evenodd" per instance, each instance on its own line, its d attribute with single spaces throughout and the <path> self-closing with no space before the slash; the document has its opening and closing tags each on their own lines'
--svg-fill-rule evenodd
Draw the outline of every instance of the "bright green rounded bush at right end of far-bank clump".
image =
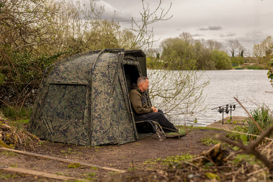
<svg viewBox="0 0 273 182">
<path fill-rule="evenodd" d="M 211 60 L 214 61 L 216 69 L 232 68 L 230 57 L 224 51 L 213 50 L 211 54 Z"/>
</svg>

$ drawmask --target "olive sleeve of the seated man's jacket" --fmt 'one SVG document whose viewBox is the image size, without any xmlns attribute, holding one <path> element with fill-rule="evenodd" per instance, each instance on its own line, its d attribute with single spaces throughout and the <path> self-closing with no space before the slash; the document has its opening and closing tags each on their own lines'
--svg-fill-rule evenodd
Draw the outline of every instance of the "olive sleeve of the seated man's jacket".
<svg viewBox="0 0 273 182">
<path fill-rule="evenodd" d="M 140 93 L 131 92 L 130 101 L 131 101 L 132 108 L 134 109 L 136 114 L 142 115 L 142 114 L 153 112 L 153 109 L 148 107 L 147 104 L 142 105 Z"/>
</svg>

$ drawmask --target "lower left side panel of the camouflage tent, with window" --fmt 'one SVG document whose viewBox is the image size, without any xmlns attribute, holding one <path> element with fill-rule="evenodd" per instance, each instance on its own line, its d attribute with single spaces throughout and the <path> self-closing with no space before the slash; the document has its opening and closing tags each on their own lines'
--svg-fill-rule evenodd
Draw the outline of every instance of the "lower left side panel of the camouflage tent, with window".
<svg viewBox="0 0 273 182">
<path fill-rule="evenodd" d="M 33 133 L 41 139 L 89 145 L 86 92 L 86 85 L 49 84 L 41 114 L 31 124 Z"/>
</svg>

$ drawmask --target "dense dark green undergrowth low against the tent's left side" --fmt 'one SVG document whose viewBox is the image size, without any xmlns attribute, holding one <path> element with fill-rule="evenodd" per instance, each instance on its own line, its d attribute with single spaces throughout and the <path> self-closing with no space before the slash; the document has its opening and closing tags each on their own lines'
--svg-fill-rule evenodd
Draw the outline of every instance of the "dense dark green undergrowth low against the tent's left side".
<svg viewBox="0 0 273 182">
<path fill-rule="evenodd" d="M 30 106 L 41 82 L 44 70 L 53 64 L 63 53 L 47 56 L 35 56 L 27 50 L 12 51 L 9 47 L 0 47 L 0 106 Z"/>
</svg>

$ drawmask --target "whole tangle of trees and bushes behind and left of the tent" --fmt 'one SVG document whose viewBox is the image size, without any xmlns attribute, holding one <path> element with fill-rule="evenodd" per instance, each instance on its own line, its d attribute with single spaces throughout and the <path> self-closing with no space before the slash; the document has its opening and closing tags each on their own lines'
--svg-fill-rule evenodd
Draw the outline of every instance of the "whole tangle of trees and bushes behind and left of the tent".
<svg viewBox="0 0 273 182">
<path fill-rule="evenodd" d="M 0 2 L 0 107 L 32 106 L 45 68 L 65 57 L 104 48 L 150 49 L 156 41 L 150 25 L 171 18 L 171 3 L 164 9 L 160 1 L 153 11 L 144 1 L 142 6 L 142 21 L 132 18 L 132 27 L 121 30 L 114 18 L 101 18 L 104 7 L 93 0 L 84 6 L 66 0 Z"/>
</svg>

